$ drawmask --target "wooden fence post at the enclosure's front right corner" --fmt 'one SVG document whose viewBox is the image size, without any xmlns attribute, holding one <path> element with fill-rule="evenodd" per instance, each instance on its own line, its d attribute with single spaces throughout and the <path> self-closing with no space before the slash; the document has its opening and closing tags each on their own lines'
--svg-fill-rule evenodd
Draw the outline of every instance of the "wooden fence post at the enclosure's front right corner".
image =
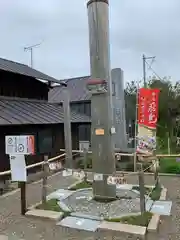
<svg viewBox="0 0 180 240">
<path fill-rule="evenodd" d="M 146 211 L 144 172 L 143 172 L 143 168 L 142 168 L 142 163 L 138 164 L 138 174 L 139 174 L 139 188 L 140 188 L 140 209 L 141 209 L 141 215 L 142 215 Z"/>
</svg>

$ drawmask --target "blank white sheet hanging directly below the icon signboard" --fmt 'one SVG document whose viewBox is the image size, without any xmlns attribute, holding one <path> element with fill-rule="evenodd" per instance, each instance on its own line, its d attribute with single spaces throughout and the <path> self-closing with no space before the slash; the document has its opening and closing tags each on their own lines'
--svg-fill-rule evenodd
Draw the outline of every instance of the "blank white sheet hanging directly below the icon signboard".
<svg viewBox="0 0 180 240">
<path fill-rule="evenodd" d="M 10 155 L 11 180 L 26 182 L 27 170 L 24 155 Z"/>
</svg>

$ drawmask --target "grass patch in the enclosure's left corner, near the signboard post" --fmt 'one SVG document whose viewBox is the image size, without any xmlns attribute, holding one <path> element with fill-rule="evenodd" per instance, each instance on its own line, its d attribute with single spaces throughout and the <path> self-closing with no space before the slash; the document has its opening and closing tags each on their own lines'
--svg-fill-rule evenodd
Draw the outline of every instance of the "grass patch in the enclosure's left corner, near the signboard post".
<svg viewBox="0 0 180 240">
<path fill-rule="evenodd" d="M 55 211 L 55 212 L 63 212 L 64 217 L 67 217 L 70 215 L 70 212 L 64 211 L 60 206 L 58 205 L 57 199 L 50 199 L 46 202 L 46 204 L 40 204 L 36 207 L 36 209 L 42 209 L 42 210 L 49 210 L 49 211 Z"/>
</svg>

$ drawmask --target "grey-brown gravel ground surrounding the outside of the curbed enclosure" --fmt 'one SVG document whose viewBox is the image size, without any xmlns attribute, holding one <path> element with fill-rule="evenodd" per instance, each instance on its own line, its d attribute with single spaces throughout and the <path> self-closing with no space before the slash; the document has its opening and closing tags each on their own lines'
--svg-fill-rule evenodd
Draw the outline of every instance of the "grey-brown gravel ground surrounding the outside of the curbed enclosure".
<svg viewBox="0 0 180 240">
<path fill-rule="evenodd" d="M 153 178 L 146 176 L 146 184 L 153 184 Z M 61 174 L 51 178 L 49 193 L 70 185 L 72 178 L 62 178 Z M 137 183 L 137 178 L 131 176 L 128 183 Z M 148 240 L 178 240 L 180 239 L 180 178 L 161 177 L 161 183 L 168 189 L 168 199 L 173 201 L 172 216 L 163 217 L 159 234 L 154 239 Z M 41 200 L 41 184 L 31 184 L 27 187 L 28 205 Z M 25 240 L 95 240 L 90 232 L 79 232 L 61 229 L 49 221 L 34 220 L 20 215 L 20 194 L 17 191 L 8 197 L 0 197 L 0 234 L 9 237 L 17 236 Z M 13 239 L 13 238 L 10 238 Z M 103 238 L 101 238 L 103 239 Z M 106 239 L 113 240 L 112 233 Z M 117 238 L 114 238 L 118 240 Z"/>
</svg>

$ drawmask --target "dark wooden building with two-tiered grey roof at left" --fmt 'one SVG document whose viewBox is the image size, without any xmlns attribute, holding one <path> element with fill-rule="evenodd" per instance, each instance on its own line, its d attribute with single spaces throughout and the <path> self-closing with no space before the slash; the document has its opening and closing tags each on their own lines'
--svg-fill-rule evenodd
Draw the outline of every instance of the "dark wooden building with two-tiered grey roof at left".
<svg viewBox="0 0 180 240">
<path fill-rule="evenodd" d="M 0 172 L 9 170 L 5 154 L 5 136 L 34 135 L 36 155 L 27 156 L 27 164 L 42 160 L 46 146 L 49 156 L 64 148 L 63 106 L 48 102 L 52 84 L 60 82 L 27 65 L 0 58 Z M 71 110 L 72 146 L 79 147 L 78 129 L 90 125 L 90 117 Z"/>
</svg>

